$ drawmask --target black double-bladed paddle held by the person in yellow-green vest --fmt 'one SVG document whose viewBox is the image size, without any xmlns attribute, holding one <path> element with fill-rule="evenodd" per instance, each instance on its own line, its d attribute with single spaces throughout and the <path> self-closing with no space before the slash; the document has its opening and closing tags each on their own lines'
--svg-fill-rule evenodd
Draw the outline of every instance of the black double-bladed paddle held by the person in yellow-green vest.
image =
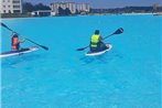
<svg viewBox="0 0 162 108">
<path fill-rule="evenodd" d="M 119 28 L 119 29 L 118 29 L 117 31 L 115 31 L 112 34 L 110 34 L 110 35 L 108 35 L 108 36 L 105 36 L 105 37 L 102 39 L 102 41 L 106 40 L 107 37 L 110 37 L 110 36 L 115 35 L 115 34 L 121 34 L 121 33 L 123 33 L 123 29 L 122 29 L 122 28 Z M 89 47 L 89 45 L 88 45 L 88 46 L 85 46 L 85 47 L 82 47 L 82 48 L 77 48 L 76 51 L 84 51 L 84 50 L 86 50 L 87 47 Z"/>
</svg>

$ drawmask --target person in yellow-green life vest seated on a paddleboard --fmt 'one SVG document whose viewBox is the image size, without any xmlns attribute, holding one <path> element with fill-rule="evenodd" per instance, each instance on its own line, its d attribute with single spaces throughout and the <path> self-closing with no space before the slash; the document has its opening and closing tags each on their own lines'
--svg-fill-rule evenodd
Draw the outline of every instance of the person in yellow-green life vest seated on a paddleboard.
<svg viewBox="0 0 162 108">
<path fill-rule="evenodd" d="M 108 48 L 101 40 L 102 37 L 99 34 L 99 30 L 96 30 L 90 37 L 90 44 L 89 44 L 90 52 L 100 52 Z"/>
</svg>

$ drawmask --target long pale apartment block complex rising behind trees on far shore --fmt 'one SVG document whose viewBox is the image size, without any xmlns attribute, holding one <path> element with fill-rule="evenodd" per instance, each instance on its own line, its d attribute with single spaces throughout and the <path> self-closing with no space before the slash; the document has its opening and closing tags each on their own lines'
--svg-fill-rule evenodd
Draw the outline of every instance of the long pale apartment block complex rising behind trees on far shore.
<svg viewBox="0 0 162 108">
<path fill-rule="evenodd" d="M 75 13 L 76 10 L 78 12 L 89 12 L 90 8 L 89 8 L 89 4 L 88 3 L 75 3 L 75 2 L 54 2 L 54 3 L 51 3 L 51 10 L 53 12 L 55 12 L 56 14 L 58 13 L 58 8 L 62 8 L 62 9 L 69 9 L 72 13 Z"/>
</svg>

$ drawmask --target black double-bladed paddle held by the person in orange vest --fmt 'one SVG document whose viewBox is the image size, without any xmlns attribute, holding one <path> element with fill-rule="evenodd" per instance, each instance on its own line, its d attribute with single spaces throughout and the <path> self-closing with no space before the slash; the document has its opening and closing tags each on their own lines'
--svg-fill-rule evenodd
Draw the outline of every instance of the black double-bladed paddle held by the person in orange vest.
<svg viewBox="0 0 162 108">
<path fill-rule="evenodd" d="M 3 28 L 6 28 L 6 29 L 8 29 L 9 31 L 11 31 L 11 32 L 13 32 L 13 33 L 17 33 L 17 32 L 14 32 L 13 30 L 11 30 L 9 26 L 7 26 L 4 23 L 0 23 Z M 18 33 L 17 33 L 18 34 Z M 32 40 L 30 40 L 30 39 L 28 39 L 28 37 L 24 37 L 25 40 L 28 40 L 29 42 L 31 42 L 31 43 L 33 43 L 33 44 L 36 44 L 37 46 L 40 46 L 40 47 L 42 47 L 42 48 L 44 48 L 44 50 L 48 50 L 48 47 L 46 47 L 46 46 L 44 46 L 44 45 L 41 45 L 41 44 L 37 44 L 36 42 L 34 42 L 34 41 L 32 41 Z"/>
</svg>

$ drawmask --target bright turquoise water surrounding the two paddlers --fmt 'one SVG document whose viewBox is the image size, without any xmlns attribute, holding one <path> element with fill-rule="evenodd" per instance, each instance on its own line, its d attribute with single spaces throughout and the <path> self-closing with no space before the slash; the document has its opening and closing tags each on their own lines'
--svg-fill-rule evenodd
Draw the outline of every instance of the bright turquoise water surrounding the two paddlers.
<svg viewBox="0 0 162 108">
<path fill-rule="evenodd" d="M 50 51 L 2 58 L 2 108 L 161 108 L 162 18 L 96 15 L 6 19 L 7 25 Z M 94 30 L 110 52 L 85 57 L 76 48 L 89 43 Z M 2 52 L 10 50 L 2 29 Z M 30 42 L 22 44 L 35 46 Z"/>
</svg>

